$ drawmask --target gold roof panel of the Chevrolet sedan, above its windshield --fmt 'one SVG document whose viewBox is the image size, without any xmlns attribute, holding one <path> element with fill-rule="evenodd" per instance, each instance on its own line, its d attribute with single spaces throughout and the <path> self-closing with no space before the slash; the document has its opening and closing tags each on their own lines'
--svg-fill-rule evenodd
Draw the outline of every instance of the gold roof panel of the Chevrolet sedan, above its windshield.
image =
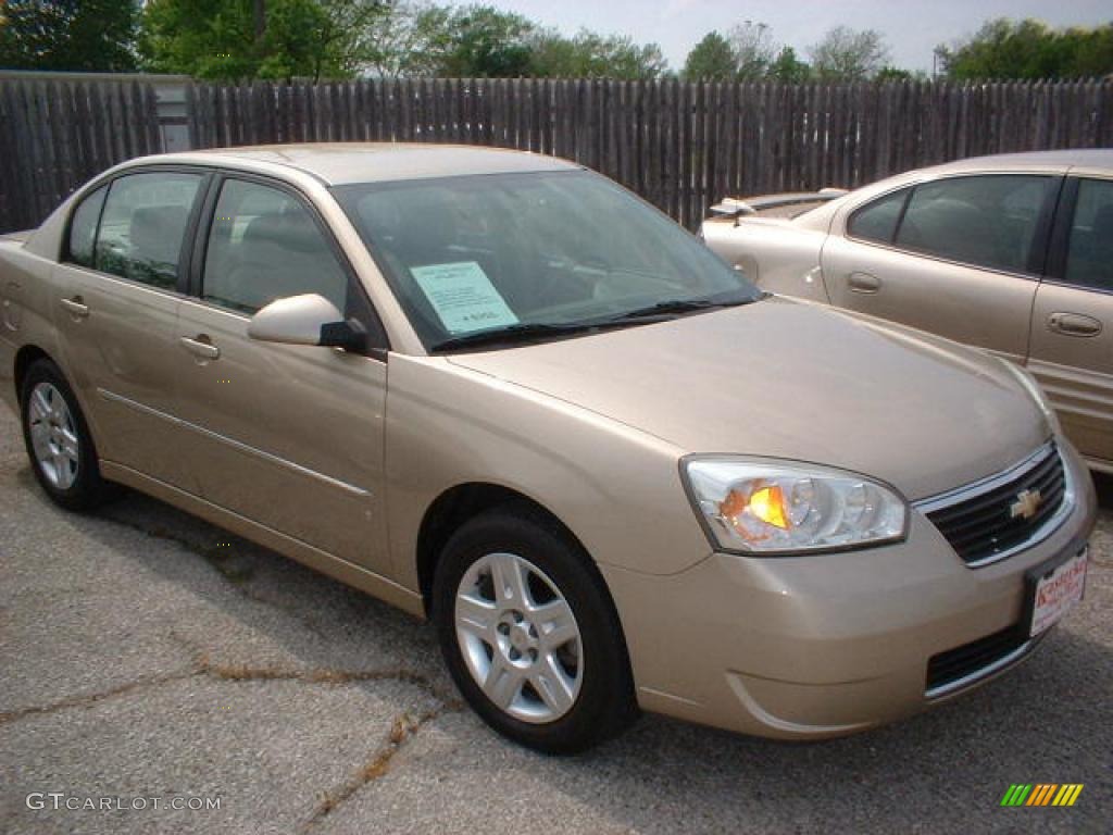
<svg viewBox="0 0 1113 835">
<path fill-rule="evenodd" d="M 250 161 L 295 168 L 329 186 L 459 177 L 477 174 L 560 171 L 582 168 L 542 154 L 432 143 L 307 143 L 214 148 L 147 157 L 144 163 Z"/>
</svg>

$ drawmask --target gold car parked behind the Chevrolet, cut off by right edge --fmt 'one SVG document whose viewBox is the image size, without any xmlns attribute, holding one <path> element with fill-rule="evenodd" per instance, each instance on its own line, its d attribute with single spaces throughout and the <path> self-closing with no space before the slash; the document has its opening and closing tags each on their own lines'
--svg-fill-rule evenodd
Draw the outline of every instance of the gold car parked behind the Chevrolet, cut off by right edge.
<svg viewBox="0 0 1113 835">
<path fill-rule="evenodd" d="M 1090 466 L 1113 472 L 1113 150 L 975 157 L 717 208 L 708 246 L 762 288 L 1026 366 Z"/>
</svg>

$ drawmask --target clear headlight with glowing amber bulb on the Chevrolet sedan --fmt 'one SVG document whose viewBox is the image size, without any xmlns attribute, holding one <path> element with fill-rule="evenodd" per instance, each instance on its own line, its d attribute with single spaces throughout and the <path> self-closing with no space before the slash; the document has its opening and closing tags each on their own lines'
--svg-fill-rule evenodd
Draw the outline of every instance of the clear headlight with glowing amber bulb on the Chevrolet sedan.
<svg viewBox="0 0 1113 835">
<path fill-rule="evenodd" d="M 722 550 L 843 550 L 905 536 L 905 500 L 857 473 L 733 458 L 684 459 L 681 472 L 705 529 Z"/>
</svg>

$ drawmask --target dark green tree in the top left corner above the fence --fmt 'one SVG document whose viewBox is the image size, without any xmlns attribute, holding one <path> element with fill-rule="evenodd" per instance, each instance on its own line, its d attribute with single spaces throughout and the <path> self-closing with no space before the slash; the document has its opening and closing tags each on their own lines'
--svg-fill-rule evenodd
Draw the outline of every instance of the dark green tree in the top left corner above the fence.
<svg viewBox="0 0 1113 835">
<path fill-rule="evenodd" d="M 136 68 L 132 0 L 0 3 L 0 67 L 126 72 Z"/>
</svg>

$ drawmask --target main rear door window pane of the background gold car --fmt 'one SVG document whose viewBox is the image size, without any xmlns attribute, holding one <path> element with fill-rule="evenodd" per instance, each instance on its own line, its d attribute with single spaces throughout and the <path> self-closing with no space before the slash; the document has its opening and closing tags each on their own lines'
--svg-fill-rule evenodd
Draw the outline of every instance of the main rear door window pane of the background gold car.
<svg viewBox="0 0 1113 835">
<path fill-rule="evenodd" d="M 1055 179 L 1037 175 L 956 177 L 916 187 L 897 246 L 991 269 L 1028 272 Z"/>
</svg>

